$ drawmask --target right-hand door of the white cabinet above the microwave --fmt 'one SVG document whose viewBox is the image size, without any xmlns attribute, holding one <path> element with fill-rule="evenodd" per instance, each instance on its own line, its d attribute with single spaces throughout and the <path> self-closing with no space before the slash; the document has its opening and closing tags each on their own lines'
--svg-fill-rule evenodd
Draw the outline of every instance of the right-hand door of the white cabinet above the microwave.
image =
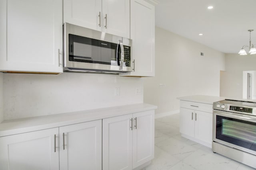
<svg viewBox="0 0 256 170">
<path fill-rule="evenodd" d="M 130 38 L 130 0 L 102 0 L 103 32 Z"/>
</svg>

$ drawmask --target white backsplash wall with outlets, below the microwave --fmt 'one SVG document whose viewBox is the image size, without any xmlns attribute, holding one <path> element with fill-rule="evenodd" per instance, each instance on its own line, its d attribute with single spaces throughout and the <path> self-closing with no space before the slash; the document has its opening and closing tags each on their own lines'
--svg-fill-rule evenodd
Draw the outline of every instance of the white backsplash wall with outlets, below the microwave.
<svg viewBox="0 0 256 170">
<path fill-rule="evenodd" d="M 142 78 L 85 73 L 5 73 L 3 79 L 4 119 L 143 102 L 143 93 L 135 94 L 136 87 L 143 92 Z M 120 96 L 114 95 L 116 87 L 120 87 Z"/>
</svg>

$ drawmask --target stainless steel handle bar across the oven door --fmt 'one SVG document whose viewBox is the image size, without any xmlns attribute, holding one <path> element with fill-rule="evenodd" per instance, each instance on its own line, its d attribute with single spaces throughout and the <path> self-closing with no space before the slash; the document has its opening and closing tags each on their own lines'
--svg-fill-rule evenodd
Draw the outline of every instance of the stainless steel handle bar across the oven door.
<svg viewBox="0 0 256 170">
<path fill-rule="evenodd" d="M 251 122 L 256 122 L 256 116 L 252 116 L 252 115 L 241 115 L 240 113 L 224 113 L 221 111 L 213 111 L 214 116 L 215 115 L 220 115 L 220 116 L 225 116 L 225 117 L 230 117 L 230 118 L 234 118 L 234 119 L 240 119 L 240 120 L 244 120 L 244 121 L 251 121 Z"/>
</svg>

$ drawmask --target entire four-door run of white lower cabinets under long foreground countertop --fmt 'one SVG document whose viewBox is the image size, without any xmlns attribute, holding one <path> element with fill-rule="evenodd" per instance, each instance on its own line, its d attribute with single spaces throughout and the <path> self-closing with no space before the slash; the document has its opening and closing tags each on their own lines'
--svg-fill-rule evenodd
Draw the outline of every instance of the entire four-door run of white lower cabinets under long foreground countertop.
<svg viewBox="0 0 256 170">
<path fill-rule="evenodd" d="M 0 137 L 0 170 L 132 170 L 153 158 L 154 110 Z"/>
</svg>

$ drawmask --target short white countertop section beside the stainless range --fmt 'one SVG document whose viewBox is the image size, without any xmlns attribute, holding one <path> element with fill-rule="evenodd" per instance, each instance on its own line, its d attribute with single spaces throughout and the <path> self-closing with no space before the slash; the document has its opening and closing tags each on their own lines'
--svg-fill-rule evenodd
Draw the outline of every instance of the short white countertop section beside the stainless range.
<svg viewBox="0 0 256 170">
<path fill-rule="evenodd" d="M 179 100 L 185 100 L 189 102 L 198 102 L 204 104 L 213 104 L 213 102 L 218 102 L 220 100 L 230 99 L 226 97 L 218 97 L 218 96 L 204 96 L 204 95 L 194 95 L 194 96 L 184 96 L 177 98 Z"/>
</svg>

